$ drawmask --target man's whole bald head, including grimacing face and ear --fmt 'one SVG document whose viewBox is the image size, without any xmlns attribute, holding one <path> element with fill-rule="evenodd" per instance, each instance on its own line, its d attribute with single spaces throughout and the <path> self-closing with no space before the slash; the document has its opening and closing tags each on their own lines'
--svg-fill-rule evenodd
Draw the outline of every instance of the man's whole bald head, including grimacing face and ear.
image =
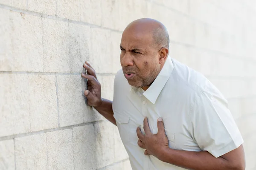
<svg viewBox="0 0 256 170">
<path fill-rule="evenodd" d="M 157 20 L 135 20 L 125 28 L 120 50 L 120 63 L 128 83 L 146 90 L 168 57 L 168 31 Z"/>
</svg>

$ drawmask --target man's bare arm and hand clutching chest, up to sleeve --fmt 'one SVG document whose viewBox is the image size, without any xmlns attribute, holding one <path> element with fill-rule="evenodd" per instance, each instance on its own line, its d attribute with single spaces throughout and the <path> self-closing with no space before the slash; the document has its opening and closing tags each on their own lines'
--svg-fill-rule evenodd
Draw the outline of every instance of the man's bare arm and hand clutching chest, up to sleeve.
<svg viewBox="0 0 256 170">
<path fill-rule="evenodd" d="M 163 119 L 157 121 L 158 133 L 151 133 L 147 118 L 144 119 L 145 135 L 137 128 L 138 145 L 146 149 L 145 155 L 153 155 L 161 161 L 191 170 L 244 170 L 244 149 L 240 147 L 215 158 L 207 151 L 193 152 L 169 148 Z"/>
</svg>

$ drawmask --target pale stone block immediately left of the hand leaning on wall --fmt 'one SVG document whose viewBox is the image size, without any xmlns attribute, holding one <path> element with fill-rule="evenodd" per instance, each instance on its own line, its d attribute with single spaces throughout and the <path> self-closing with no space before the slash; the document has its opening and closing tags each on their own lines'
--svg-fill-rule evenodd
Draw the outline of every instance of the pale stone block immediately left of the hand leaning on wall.
<svg viewBox="0 0 256 170">
<path fill-rule="evenodd" d="M 60 126 L 92 122 L 93 114 L 88 113 L 90 106 L 85 104 L 81 75 L 58 75 L 58 106 Z"/>
</svg>

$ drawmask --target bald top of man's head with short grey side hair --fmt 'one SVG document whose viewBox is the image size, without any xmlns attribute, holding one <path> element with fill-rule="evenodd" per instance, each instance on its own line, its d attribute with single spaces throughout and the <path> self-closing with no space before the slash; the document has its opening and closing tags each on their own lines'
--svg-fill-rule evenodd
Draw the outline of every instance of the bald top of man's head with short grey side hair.
<svg viewBox="0 0 256 170">
<path fill-rule="evenodd" d="M 169 49 L 169 34 L 166 27 L 157 20 L 142 18 L 131 22 L 124 33 L 150 35 L 152 45 L 156 48 L 166 47 Z"/>
</svg>

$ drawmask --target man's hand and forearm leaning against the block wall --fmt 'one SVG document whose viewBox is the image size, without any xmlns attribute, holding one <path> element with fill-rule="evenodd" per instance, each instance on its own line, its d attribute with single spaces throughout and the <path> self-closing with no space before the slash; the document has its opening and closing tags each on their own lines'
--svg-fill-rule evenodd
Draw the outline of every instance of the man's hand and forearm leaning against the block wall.
<svg viewBox="0 0 256 170">
<path fill-rule="evenodd" d="M 96 72 L 88 62 L 84 63 L 84 68 L 88 74 L 82 73 L 81 76 L 88 79 L 87 90 L 84 91 L 87 104 L 94 107 L 102 116 L 116 125 L 116 120 L 113 117 L 112 101 L 101 97 L 101 85 L 96 77 Z"/>
</svg>

